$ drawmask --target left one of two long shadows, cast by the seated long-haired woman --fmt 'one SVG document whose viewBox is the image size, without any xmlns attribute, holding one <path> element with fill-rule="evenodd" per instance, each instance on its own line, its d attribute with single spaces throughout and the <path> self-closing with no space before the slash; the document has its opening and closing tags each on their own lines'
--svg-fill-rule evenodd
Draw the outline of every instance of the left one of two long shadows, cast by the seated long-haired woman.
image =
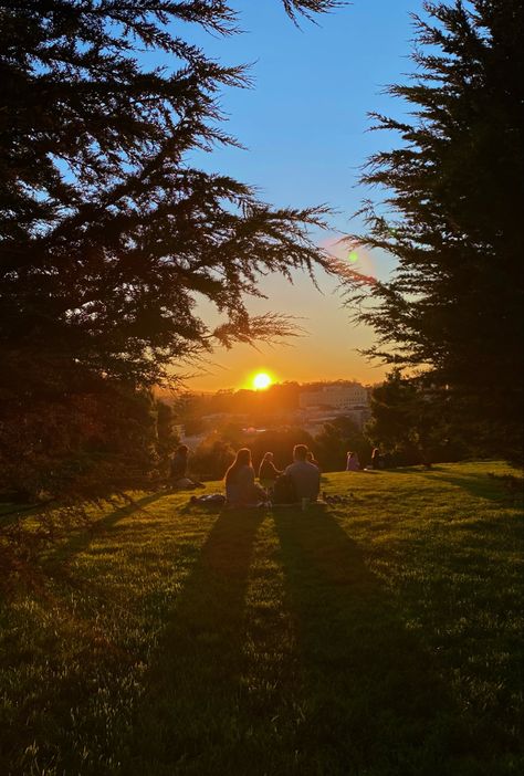
<svg viewBox="0 0 524 776">
<path fill-rule="evenodd" d="M 234 748 L 241 725 L 245 588 L 264 516 L 223 512 L 214 523 L 147 679 L 124 756 L 126 776 L 228 773 L 223 753 Z"/>
</svg>

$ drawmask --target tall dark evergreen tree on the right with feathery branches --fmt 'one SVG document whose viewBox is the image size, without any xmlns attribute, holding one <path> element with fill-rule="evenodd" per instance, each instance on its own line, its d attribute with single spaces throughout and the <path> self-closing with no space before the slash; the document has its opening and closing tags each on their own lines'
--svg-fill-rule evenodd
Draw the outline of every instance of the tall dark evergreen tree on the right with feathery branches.
<svg viewBox="0 0 524 776">
<path fill-rule="evenodd" d="M 398 260 L 390 282 L 360 285 L 368 353 L 448 387 L 454 422 L 490 454 L 522 460 L 523 33 L 521 0 L 425 3 L 417 72 L 389 93 L 402 144 L 374 156 L 364 182 L 389 193 L 365 208 L 359 238 Z M 371 303 L 369 304 L 369 298 Z"/>
</svg>

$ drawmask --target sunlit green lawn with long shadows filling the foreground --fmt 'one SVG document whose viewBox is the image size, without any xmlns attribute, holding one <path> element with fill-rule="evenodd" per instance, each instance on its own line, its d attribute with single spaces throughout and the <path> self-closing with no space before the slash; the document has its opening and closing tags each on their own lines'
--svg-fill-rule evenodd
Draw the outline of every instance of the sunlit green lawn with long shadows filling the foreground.
<svg viewBox="0 0 524 776">
<path fill-rule="evenodd" d="M 0 773 L 522 773 L 509 471 L 331 474 L 349 505 L 307 513 L 109 510 L 1 606 Z"/>
</svg>

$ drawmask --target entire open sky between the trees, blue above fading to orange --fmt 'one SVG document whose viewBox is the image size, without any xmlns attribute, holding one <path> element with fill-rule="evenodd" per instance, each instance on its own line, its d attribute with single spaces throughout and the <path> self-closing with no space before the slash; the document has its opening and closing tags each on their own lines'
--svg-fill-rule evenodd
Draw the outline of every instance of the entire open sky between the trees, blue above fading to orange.
<svg viewBox="0 0 524 776">
<path fill-rule="evenodd" d="M 398 143 L 395 136 L 370 133 L 369 111 L 401 115 L 404 106 L 381 93 L 405 78 L 413 65 L 408 55 L 413 36 L 410 12 L 421 0 L 353 0 L 346 8 L 301 21 L 297 29 L 279 0 L 237 0 L 244 32 L 228 39 L 197 32 L 192 40 L 228 64 L 253 63 L 252 90 L 226 90 L 221 105 L 227 129 L 248 150 L 219 148 L 198 157 L 208 170 L 227 172 L 258 188 L 275 206 L 328 203 L 338 214 L 333 232 L 358 231 L 350 217 L 370 191 L 357 186 L 359 167 L 377 149 Z M 328 235 L 318 235 L 318 241 Z M 364 256 L 363 269 L 387 276 L 394 264 L 387 255 Z M 239 345 L 217 350 L 207 367 L 187 386 L 218 390 L 247 386 L 251 376 L 270 371 L 277 380 L 356 378 L 375 382 L 385 369 L 357 349 L 373 342 L 373 332 L 349 322 L 336 281 L 318 275 L 322 294 L 308 277 L 263 280 L 266 300 L 253 300 L 250 311 L 298 316 L 307 334 L 289 345 Z M 213 321 L 211 305 L 202 305 Z"/>
</svg>

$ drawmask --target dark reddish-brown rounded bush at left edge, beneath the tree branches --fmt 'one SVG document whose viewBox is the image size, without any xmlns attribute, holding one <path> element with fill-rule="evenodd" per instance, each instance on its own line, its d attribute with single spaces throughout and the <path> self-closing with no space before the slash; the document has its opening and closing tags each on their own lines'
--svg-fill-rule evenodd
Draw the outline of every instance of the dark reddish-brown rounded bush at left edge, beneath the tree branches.
<svg viewBox="0 0 524 776">
<path fill-rule="evenodd" d="M 42 390 L 38 379 L 19 377 L 11 391 L 2 391 L 6 495 L 22 502 L 60 496 L 66 503 L 159 481 L 177 439 L 171 409 L 149 391 L 88 376 L 80 385 Z"/>
</svg>

